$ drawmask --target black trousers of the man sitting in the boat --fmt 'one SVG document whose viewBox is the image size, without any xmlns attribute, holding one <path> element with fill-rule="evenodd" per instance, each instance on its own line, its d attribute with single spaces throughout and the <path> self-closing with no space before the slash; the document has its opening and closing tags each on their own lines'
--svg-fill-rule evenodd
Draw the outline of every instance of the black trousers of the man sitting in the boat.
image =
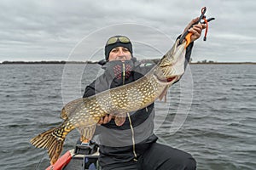
<svg viewBox="0 0 256 170">
<path fill-rule="evenodd" d="M 138 161 L 114 164 L 102 170 L 195 170 L 196 161 L 187 152 L 154 143 Z"/>
</svg>

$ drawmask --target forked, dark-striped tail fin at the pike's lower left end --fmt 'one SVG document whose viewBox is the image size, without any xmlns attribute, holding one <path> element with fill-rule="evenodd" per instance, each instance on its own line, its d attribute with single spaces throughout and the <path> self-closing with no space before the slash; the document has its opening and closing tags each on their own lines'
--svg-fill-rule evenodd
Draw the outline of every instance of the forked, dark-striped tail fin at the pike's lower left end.
<svg viewBox="0 0 256 170">
<path fill-rule="evenodd" d="M 38 134 L 38 136 L 30 140 L 31 144 L 37 148 L 45 148 L 48 150 L 50 164 L 53 165 L 61 155 L 62 147 L 64 144 L 64 138 L 55 135 L 55 131 L 58 131 L 60 127 L 52 128 L 44 133 Z"/>
</svg>

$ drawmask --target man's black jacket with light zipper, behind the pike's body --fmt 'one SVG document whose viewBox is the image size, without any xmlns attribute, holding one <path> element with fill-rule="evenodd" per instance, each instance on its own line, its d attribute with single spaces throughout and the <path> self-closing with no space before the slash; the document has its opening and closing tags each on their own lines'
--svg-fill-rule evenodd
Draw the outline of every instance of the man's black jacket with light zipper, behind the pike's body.
<svg viewBox="0 0 256 170">
<path fill-rule="evenodd" d="M 186 50 L 186 61 L 189 62 L 193 42 Z M 185 64 L 187 65 L 187 64 Z M 115 88 L 123 84 L 134 82 L 143 77 L 154 67 L 151 65 L 141 65 L 135 58 L 131 60 L 111 61 L 102 66 L 104 73 L 97 77 L 94 82 L 85 88 L 84 98 L 98 94 L 109 88 Z M 147 108 L 136 111 L 125 119 L 122 126 L 116 126 L 111 120 L 107 124 L 102 124 L 96 128 L 99 134 L 97 142 L 100 143 L 100 164 L 102 167 L 116 162 L 131 161 L 136 158 L 131 136 L 135 137 L 135 152 L 137 157 L 142 155 L 150 144 L 157 140 L 154 135 L 154 103 Z M 134 133 L 131 133 L 131 127 Z"/>
</svg>

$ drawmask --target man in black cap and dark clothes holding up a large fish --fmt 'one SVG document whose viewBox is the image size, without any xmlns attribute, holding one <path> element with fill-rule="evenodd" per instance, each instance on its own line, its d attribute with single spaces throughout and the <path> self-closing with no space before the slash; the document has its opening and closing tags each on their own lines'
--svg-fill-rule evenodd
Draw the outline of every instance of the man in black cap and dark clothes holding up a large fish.
<svg viewBox="0 0 256 170">
<path fill-rule="evenodd" d="M 201 37 L 204 24 L 191 20 L 185 31 L 192 33 L 186 48 L 186 62 L 189 62 L 193 43 Z M 195 24 L 194 26 L 192 26 Z M 190 26 L 192 26 L 190 28 Z M 133 56 L 132 44 L 128 37 L 114 36 L 105 46 L 106 62 L 101 63 L 104 73 L 85 88 L 84 98 L 134 82 L 143 77 L 154 65 L 139 65 Z M 183 150 L 157 143 L 154 134 L 154 103 L 124 117 L 104 116 L 96 128 L 99 133 L 100 157 L 103 170 L 125 169 L 196 169 L 195 159 Z M 115 120 L 118 119 L 118 120 Z M 99 128 L 101 128 L 99 130 Z"/>
</svg>

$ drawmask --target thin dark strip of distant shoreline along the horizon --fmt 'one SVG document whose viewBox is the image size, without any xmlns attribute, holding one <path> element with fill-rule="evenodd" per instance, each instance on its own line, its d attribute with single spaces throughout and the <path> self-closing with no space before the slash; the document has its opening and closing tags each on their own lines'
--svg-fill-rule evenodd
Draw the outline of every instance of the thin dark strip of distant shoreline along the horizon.
<svg viewBox="0 0 256 170">
<path fill-rule="evenodd" d="M 148 59 L 157 63 L 159 59 Z M 65 65 L 65 64 L 97 64 L 98 61 L 3 61 L 0 65 Z M 256 65 L 256 62 L 190 62 L 190 65 Z"/>
</svg>

